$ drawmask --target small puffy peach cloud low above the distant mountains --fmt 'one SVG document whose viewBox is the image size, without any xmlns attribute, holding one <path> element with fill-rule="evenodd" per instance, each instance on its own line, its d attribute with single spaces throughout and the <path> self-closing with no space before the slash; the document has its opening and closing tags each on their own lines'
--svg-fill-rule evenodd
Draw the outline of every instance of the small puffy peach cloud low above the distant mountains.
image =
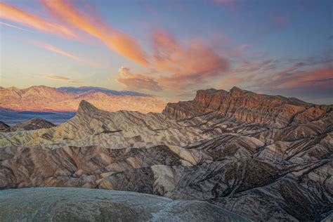
<svg viewBox="0 0 333 222">
<path fill-rule="evenodd" d="M 150 91 L 162 91 L 162 87 L 159 86 L 155 79 L 143 74 L 133 74 L 127 67 L 121 67 L 119 69 L 117 81 L 131 90 L 148 89 Z"/>
</svg>

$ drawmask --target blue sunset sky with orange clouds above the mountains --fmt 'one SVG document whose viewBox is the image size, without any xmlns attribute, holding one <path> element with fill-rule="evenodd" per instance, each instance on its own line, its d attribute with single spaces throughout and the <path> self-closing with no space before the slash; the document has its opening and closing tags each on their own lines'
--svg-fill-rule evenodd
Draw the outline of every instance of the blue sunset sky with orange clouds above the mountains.
<svg viewBox="0 0 333 222">
<path fill-rule="evenodd" d="M 333 103 L 333 2 L 1 0 L 0 86 L 191 99 L 233 86 Z"/>
</svg>

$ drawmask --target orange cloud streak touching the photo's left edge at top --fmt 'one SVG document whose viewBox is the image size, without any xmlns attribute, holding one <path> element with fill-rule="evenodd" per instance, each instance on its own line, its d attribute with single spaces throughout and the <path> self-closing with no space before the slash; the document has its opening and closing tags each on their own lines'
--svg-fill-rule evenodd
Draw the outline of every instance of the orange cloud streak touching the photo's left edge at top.
<svg viewBox="0 0 333 222">
<path fill-rule="evenodd" d="M 6 20 L 11 20 L 13 22 L 18 22 L 27 27 L 32 27 L 41 32 L 46 32 L 49 34 L 56 34 L 60 37 L 65 37 L 67 39 L 79 39 L 72 30 L 68 29 L 63 25 L 59 25 L 53 22 L 48 22 L 43 18 L 39 18 L 37 15 L 21 11 L 14 6 L 0 3 L 0 18 Z"/>
</svg>

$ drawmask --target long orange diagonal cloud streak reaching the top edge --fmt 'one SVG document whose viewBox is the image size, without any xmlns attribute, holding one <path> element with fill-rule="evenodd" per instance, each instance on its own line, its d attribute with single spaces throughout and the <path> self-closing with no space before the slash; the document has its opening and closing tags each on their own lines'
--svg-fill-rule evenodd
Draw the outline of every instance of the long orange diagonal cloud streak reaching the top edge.
<svg viewBox="0 0 333 222">
<path fill-rule="evenodd" d="M 68 22 L 77 29 L 90 34 L 103 42 L 108 48 L 124 55 L 141 65 L 148 65 L 145 52 L 140 44 L 128 35 L 118 30 L 107 27 L 100 18 L 91 18 L 74 8 L 69 1 L 65 0 L 42 0 L 43 4 L 60 20 Z M 99 21 L 99 22 L 92 22 Z"/>
</svg>

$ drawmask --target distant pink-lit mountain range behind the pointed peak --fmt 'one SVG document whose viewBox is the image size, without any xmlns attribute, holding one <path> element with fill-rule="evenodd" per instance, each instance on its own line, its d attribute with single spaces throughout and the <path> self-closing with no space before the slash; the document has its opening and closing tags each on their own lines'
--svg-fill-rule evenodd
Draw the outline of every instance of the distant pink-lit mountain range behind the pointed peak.
<svg viewBox="0 0 333 222">
<path fill-rule="evenodd" d="M 27 89 L 0 88 L 0 107 L 25 111 L 76 111 L 81 100 L 103 110 L 162 112 L 169 100 L 135 91 L 115 91 L 94 86 L 32 86 Z"/>
</svg>

